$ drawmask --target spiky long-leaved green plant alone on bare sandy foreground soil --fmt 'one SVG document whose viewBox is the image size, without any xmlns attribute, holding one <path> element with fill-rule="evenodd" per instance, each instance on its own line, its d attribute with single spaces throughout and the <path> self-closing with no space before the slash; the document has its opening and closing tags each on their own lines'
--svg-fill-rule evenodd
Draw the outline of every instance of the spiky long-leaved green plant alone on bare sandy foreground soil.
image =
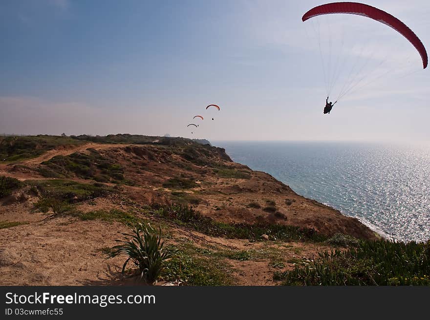
<svg viewBox="0 0 430 320">
<path fill-rule="evenodd" d="M 131 229 L 132 233 L 120 233 L 129 240 L 115 240 L 120 244 L 112 247 L 108 258 L 114 256 L 129 256 L 124 262 L 122 274 L 124 275 L 127 264 L 131 261 L 139 268 L 140 278 L 153 284 L 165 268 L 165 260 L 173 256 L 172 252 L 163 250 L 164 242 L 161 241 L 161 227 L 156 234 L 150 224 L 137 224 Z"/>
</svg>

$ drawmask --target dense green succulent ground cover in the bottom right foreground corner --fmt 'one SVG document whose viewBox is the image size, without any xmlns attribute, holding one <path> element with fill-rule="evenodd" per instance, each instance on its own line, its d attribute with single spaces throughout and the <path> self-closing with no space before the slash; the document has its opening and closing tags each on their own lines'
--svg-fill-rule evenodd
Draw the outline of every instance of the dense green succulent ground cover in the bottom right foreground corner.
<svg viewBox="0 0 430 320">
<path fill-rule="evenodd" d="M 284 285 L 430 285 L 430 241 L 359 241 L 277 274 Z"/>
</svg>

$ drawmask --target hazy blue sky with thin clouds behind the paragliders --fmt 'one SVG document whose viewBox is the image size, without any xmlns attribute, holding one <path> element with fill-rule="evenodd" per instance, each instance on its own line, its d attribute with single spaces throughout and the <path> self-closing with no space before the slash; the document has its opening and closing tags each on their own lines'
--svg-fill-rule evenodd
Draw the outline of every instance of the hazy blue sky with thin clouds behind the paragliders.
<svg viewBox="0 0 430 320">
<path fill-rule="evenodd" d="M 430 144 L 418 52 L 365 17 L 301 21 L 322 3 L 2 0 L 0 133 Z M 430 46 L 430 1 L 364 3 Z M 329 75 L 330 100 L 352 89 L 323 115 Z"/>
</svg>

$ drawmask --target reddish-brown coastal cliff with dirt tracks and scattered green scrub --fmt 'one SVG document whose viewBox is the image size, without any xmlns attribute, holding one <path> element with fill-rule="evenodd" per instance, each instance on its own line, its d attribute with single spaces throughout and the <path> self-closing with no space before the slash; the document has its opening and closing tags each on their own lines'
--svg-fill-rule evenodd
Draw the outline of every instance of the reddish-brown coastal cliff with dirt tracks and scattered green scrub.
<svg viewBox="0 0 430 320">
<path fill-rule="evenodd" d="M 330 237 L 377 238 L 209 144 L 128 134 L 0 140 L 0 176 L 19 181 L 0 198 L 4 284 L 122 284 L 118 258 L 105 261 L 104 251 L 142 221 L 161 225 L 169 245 L 220 281 L 212 284 L 276 284 L 273 268 L 332 248 Z M 254 256 L 235 256 L 245 252 Z M 211 284 L 193 277 L 184 281 Z"/>
</svg>

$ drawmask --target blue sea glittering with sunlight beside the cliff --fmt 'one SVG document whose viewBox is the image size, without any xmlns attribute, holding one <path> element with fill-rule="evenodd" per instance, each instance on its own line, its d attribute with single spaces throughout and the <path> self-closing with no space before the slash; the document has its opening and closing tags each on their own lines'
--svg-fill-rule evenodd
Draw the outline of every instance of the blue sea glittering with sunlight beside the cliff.
<svg viewBox="0 0 430 320">
<path fill-rule="evenodd" d="M 232 159 L 402 241 L 430 238 L 430 148 L 357 142 L 214 142 Z"/>
</svg>

